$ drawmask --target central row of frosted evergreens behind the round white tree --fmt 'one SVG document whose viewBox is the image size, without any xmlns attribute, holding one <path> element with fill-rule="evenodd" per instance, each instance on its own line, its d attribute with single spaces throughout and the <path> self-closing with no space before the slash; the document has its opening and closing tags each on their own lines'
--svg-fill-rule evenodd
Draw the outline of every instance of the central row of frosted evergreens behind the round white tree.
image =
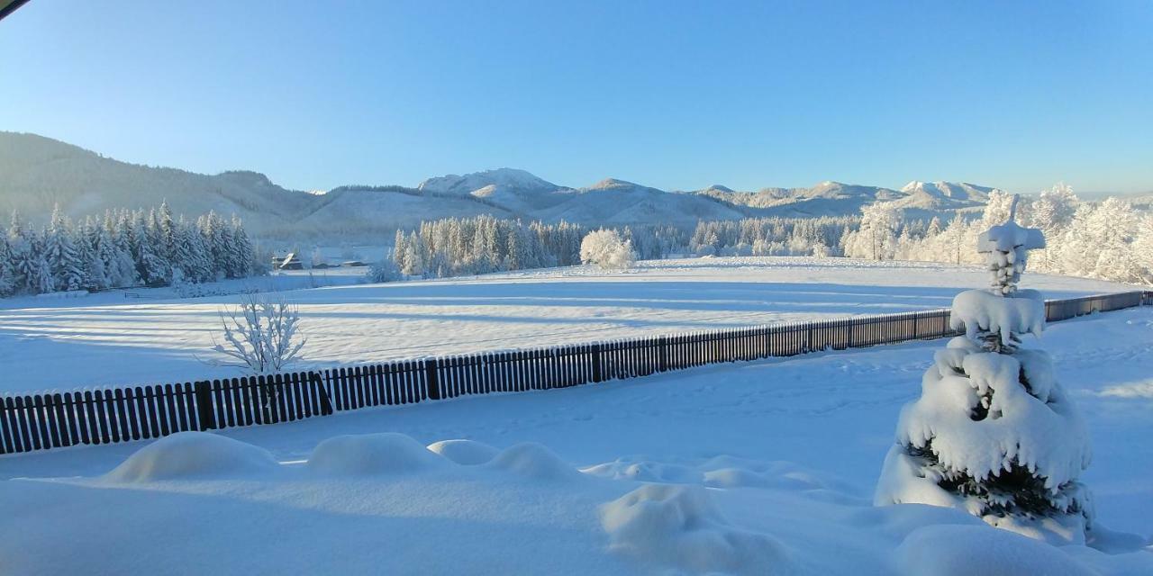
<svg viewBox="0 0 1153 576">
<path fill-rule="evenodd" d="M 624 227 L 638 258 L 668 257 L 684 245 L 673 226 Z M 409 276 L 449 278 L 512 270 L 580 264 L 580 243 L 588 229 L 570 222 L 500 220 L 491 215 L 421 222 L 416 230 L 397 230 L 393 262 Z"/>
</svg>

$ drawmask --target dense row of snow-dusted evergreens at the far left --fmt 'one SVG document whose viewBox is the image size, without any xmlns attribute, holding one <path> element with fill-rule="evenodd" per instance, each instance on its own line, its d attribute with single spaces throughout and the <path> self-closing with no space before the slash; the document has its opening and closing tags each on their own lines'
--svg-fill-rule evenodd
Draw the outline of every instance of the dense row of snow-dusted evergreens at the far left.
<svg viewBox="0 0 1153 576">
<path fill-rule="evenodd" d="M 0 230 L 0 296 L 171 286 L 267 272 L 236 217 L 174 219 L 167 203 L 73 222 L 60 207 L 43 228 L 13 213 Z"/>
</svg>

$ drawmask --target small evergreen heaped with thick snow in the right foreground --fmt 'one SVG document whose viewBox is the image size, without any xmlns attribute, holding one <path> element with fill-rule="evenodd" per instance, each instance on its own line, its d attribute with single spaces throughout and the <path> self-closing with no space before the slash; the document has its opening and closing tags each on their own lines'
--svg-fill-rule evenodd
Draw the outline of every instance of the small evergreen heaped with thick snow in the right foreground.
<svg viewBox="0 0 1153 576">
<path fill-rule="evenodd" d="M 1090 462 L 1085 424 L 1049 356 L 1020 348 L 1045 326 L 1041 295 L 1017 289 L 1026 250 L 1045 237 L 1009 214 L 978 238 L 993 288 L 954 300 L 950 325 L 966 334 L 935 354 L 921 397 L 902 409 L 875 503 L 960 508 L 1026 536 L 1083 543 L 1093 521 L 1077 480 Z"/>
</svg>

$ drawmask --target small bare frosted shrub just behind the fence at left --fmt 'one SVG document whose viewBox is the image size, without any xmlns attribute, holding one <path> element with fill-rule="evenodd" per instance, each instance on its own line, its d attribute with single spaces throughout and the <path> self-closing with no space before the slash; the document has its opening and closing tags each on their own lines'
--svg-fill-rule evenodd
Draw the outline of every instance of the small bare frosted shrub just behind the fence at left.
<svg viewBox="0 0 1153 576">
<path fill-rule="evenodd" d="M 244 297 L 220 312 L 224 342 L 212 349 L 226 359 L 219 366 L 240 367 L 253 374 L 279 372 L 300 358 L 304 338 L 297 332 L 300 311 L 284 300 Z"/>
</svg>

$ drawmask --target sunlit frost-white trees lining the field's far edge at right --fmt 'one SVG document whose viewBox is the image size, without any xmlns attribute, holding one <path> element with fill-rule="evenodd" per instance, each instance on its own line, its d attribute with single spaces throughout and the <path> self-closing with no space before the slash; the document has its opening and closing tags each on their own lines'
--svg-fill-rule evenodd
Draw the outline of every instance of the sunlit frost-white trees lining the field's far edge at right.
<svg viewBox="0 0 1153 576">
<path fill-rule="evenodd" d="M 865 206 L 859 217 L 702 221 L 687 251 L 980 264 L 980 256 L 969 248 L 981 230 L 1004 221 L 1010 199 L 1009 194 L 993 190 L 984 212 L 958 212 L 948 221 L 909 219 L 883 202 Z M 1153 213 L 1116 197 L 1083 202 L 1071 188 L 1057 184 L 1039 196 L 1023 196 L 1018 214 L 1048 238 L 1048 248 L 1030 262 L 1033 271 L 1153 282 Z"/>
</svg>

